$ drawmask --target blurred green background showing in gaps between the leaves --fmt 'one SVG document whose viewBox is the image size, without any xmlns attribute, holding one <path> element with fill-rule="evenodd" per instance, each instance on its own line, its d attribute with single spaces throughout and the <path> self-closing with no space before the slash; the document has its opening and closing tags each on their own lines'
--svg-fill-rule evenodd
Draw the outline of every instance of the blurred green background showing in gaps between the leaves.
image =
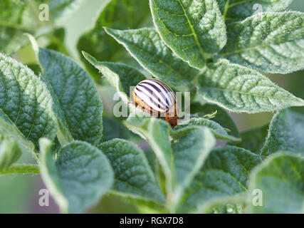
<svg viewBox="0 0 304 228">
<path fill-rule="evenodd" d="M 1 1 L 1 0 L 0 0 Z M 93 21 L 98 16 L 100 9 L 105 5 L 106 0 L 89 0 L 85 1 L 79 11 L 75 12 L 70 18 L 59 21 L 58 26 L 65 28 L 65 46 L 73 58 L 75 58 L 80 65 L 81 63 L 78 51 L 76 50 L 76 43 L 79 36 L 93 26 Z M 293 0 L 293 4 L 289 7 L 290 10 L 303 11 L 304 1 Z M 1 9 L 2 10 L 2 9 Z M 29 63 L 29 59 L 33 61 L 33 53 L 30 48 L 28 50 L 23 48 L 22 54 L 19 56 L 19 61 Z M 271 80 L 293 93 L 293 95 L 304 99 L 304 71 L 292 73 L 289 75 L 271 75 Z M 112 88 L 100 87 L 100 94 L 102 94 L 105 113 L 110 113 L 112 101 Z M 110 102 L 109 102 L 110 101 Z M 295 108 L 297 111 L 304 113 L 303 108 Z M 266 125 L 273 115 L 273 113 L 261 114 L 237 114 L 231 113 L 236 121 L 236 125 L 240 131 L 256 128 L 261 125 Z M 29 155 L 23 155 L 19 162 L 33 162 Z M 41 207 L 38 204 L 39 190 L 45 188 L 39 175 L 10 175 L 0 176 L 0 213 L 56 213 L 58 207 L 53 199 L 50 198 L 48 207 Z M 134 213 L 138 212 L 138 208 L 132 206 L 130 202 L 119 199 L 117 197 L 106 196 L 100 201 L 98 205 L 90 210 L 93 213 Z M 147 212 L 147 211 L 145 211 Z"/>
</svg>

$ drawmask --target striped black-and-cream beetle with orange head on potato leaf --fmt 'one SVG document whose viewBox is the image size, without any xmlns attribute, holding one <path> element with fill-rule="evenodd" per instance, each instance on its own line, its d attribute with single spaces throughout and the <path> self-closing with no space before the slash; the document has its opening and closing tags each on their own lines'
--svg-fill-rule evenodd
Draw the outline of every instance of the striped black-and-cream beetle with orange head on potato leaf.
<svg viewBox="0 0 304 228">
<path fill-rule="evenodd" d="M 172 128 L 177 125 L 177 98 L 164 82 L 155 78 L 145 79 L 135 86 L 132 98 L 137 108 L 167 121 Z"/>
</svg>

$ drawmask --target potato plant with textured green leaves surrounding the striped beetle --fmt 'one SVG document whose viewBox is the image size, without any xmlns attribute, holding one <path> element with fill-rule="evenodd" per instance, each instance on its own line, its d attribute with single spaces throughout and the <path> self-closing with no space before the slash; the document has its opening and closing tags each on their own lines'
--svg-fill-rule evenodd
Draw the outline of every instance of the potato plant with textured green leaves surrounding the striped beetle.
<svg viewBox="0 0 304 228">
<path fill-rule="evenodd" d="M 139 212 L 303 213 L 304 100 L 268 78 L 304 69 L 291 1 L 100 1 L 75 58 L 56 21 L 85 0 L 1 0 L 0 175 L 41 175 L 63 213 L 105 195 Z M 187 125 L 105 116 L 100 85 L 132 113 L 145 78 L 190 92 Z M 262 112 L 271 122 L 241 133 L 229 114 Z"/>
</svg>

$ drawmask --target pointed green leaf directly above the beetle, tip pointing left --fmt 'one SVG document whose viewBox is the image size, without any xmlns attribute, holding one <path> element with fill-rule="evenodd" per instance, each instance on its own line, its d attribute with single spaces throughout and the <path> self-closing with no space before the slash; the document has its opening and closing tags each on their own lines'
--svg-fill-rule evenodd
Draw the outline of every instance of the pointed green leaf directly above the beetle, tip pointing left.
<svg viewBox="0 0 304 228">
<path fill-rule="evenodd" d="M 127 51 L 153 76 L 172 86 L 189 86 L 196 69 L 179 59 L 161 40 L 153 28 L 105 31 L 121 43 Z"/>
</svg>

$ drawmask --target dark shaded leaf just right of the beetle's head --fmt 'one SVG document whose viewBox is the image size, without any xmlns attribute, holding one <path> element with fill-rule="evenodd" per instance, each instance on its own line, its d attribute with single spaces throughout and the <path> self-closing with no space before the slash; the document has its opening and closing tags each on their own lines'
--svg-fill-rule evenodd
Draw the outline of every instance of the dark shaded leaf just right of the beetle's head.
<svg viewBox="0 0 304 228">
<path fill-rule="evenodd" d="M 219 123 L 223 128 L 229 129 L 229 135 L 233 135 L 236 138 L 239 138 L 239 130 L 236 128 L 234 120 L 231 118 L 231 115 L 224 110 L 224 108 L 219 107 L 218 105 L 205 103 L 201 105 L 200 103 L 192 103 L 190 106 L 191 113 L 194 115 L 210 115 L 211 113 L 216 112 L 216 115 L 212 118 L 216 123 Z"/>
</svg>

